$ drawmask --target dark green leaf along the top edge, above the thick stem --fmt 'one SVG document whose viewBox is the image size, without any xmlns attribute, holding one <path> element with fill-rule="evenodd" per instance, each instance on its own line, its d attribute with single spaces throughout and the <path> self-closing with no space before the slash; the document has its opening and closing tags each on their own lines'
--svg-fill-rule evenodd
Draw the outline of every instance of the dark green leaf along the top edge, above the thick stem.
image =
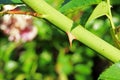
<svg viewBox="0 0 120 80">
<path fill-rule="evenodd" d="M 73 12 L 75 10 L 85 8 L 90 5 L 98 4 L 101 0 L 71 0 L 63 7 L 60 8 L 60 11 L 63 13 Z"/>
</svg>

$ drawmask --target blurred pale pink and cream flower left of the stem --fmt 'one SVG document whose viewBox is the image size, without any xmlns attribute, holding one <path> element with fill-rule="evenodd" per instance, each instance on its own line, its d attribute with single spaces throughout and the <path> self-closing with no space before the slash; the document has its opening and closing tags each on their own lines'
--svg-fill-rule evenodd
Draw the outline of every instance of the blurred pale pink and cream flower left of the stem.
<svg viewBox="0 0 120 80">
<path fill-rule="evenodd" d="M 15 42 L 31 41 L 37 35 L 37 28 L 30 15 L 6 14 L 1 19 L 0 29 L 9 36 L 10 41 Z"/>
</svg>

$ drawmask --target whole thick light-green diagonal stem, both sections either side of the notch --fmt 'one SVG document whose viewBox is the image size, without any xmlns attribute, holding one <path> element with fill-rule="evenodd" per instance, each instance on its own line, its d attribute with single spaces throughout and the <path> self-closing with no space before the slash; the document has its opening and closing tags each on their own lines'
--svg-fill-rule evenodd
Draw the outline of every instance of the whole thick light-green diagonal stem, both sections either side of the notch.
<svg viewBox="0 0 120 80">
<path fill-rule="evenodd" d="M 58 28 L 65 32 L 71 32 L 77 40 L 94 49 L 102 56 L 108 58 L 113 62 L 120 61 L 120 50 L 113 47 L 109 43 L 92 34 L 81 25 L 73 28 L 73 21 L 52 8 L 44 0 L 22 0 L 29 5 L 37 13 L 42 13 L 45 19 L 55 24 Z M 72 29 L 73 28 L 73 29 Z M 72 30 L 71 30 L 72 29 Z"/>
</svg>

